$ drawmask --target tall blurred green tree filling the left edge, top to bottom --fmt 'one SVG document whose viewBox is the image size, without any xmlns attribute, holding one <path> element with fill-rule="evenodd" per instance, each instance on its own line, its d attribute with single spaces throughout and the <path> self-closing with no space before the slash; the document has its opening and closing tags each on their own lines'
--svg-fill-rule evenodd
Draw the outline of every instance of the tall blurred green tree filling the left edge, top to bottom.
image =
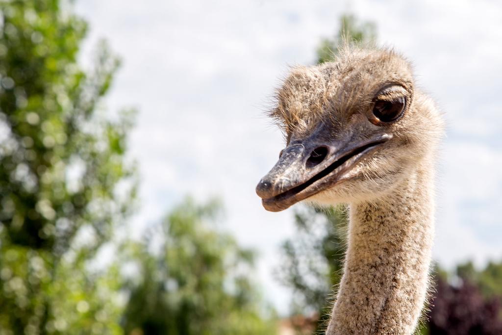
<svg viewBox="0 0 502 335">
<path fill-rule="evenodd" d="M 0 333 L 117 333 L 118 281 L 88 270 L 135 196 L 131 111 L 97 111 L 118 60 L 77 64 L 71 2 L 0 2 Z M 104 285 L 106 283 L 106 285 Z"/>
</svg>

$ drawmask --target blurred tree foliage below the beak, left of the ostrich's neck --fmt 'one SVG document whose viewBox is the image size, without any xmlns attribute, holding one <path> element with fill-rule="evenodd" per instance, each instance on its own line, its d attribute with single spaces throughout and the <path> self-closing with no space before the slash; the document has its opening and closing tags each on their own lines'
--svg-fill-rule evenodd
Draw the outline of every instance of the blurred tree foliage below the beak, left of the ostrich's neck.
<svg viewBox="0 0 502 335">
<path fill-rule="evenodd" d="M 295 313 L 317 313 L 322 326 L 329 316 L 329 294 L 340 281 L 345 253 L 344 207 L 304 206 L 295 212 L 297 234 L 283 244 L 278 277 L 293 289 Z"/>
</svg>

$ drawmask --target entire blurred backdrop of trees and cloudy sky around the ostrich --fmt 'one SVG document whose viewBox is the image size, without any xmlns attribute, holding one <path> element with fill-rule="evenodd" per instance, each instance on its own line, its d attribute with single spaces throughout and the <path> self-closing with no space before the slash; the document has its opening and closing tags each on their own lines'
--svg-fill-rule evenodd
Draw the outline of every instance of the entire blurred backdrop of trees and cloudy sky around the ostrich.
<svg viewBox="0 0 502 335">
<path fill-rule="evenodd" d="M 444 111 L 422 332 L 502 333 L 502 4 L 0 1 L 0 333 L 322 328 L 343 207 L 269 213 L 264 112 L 342 35 Z"/>
</svg>

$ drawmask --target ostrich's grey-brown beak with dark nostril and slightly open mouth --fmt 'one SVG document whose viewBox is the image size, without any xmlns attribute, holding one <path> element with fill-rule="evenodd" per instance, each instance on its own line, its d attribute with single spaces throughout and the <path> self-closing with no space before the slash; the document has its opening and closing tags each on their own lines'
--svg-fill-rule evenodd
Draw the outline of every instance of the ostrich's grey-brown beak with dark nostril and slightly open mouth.
<svg viewBox="0 0 502 335">
<path fill-rule="evenodd" d="M 281 211 L 346 179 L 345 175 L 374 148 L 391 139 L 382 134 L 356 141 L 353 136 L 320 141 L 319 136 L 291 141 L 256 188 L 265 209 Z"/>
</svg>

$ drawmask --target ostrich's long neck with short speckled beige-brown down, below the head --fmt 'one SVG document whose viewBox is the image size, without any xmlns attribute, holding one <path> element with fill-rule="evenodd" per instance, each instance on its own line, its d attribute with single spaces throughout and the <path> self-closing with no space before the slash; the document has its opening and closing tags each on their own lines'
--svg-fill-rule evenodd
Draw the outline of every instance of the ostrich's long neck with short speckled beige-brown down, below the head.
<svg viewBox="0 0 502 335">
<path fill-rule="evenodd" d="M 413 333 L 434 236 L 429 170 L 419 167 L 384 197 L 350 205 L 344 274 L 327 335 Z"/>
</svg>

